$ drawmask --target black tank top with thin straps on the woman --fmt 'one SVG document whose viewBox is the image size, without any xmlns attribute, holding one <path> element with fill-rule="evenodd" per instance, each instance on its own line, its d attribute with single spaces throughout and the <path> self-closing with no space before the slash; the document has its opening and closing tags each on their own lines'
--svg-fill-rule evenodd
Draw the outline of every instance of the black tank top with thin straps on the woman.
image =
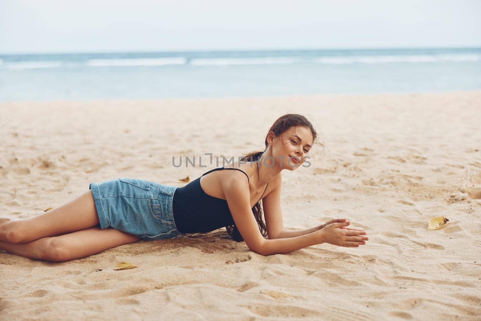
<svg viewBox="0 0 481 321">
<path fill-rule="evenodd" d="M 249 182 L 249 176 L 239 168 L 214 168 L 202 174 L 202 176 L 221 169 L 240 170 L 247 176 L 247 181 Z M 227 201 L 207 195 L 201 187 L 201 177 L 192 180 L 183 187 L 177 188 L 174 192 L 172 212 L 177 230 L 183 234 L 207 233 L 234 224 Z M 262 199 L 266 189 L 259 201 Z"/>
</svg>

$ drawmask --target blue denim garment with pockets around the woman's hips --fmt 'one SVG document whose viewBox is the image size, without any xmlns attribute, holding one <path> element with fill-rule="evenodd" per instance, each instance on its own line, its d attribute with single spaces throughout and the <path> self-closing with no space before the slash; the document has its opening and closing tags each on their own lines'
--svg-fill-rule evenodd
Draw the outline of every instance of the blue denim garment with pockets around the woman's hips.
<svg viewBox="0 0 481 321">
<path fill-rule="evenodd" d="M 103 230 L 112 227 L 142 240 L 163 240 L 181 235 L 172 213 L 177 187 L 150 180 L 115 179 L 90 183 Z"/>
</svg>

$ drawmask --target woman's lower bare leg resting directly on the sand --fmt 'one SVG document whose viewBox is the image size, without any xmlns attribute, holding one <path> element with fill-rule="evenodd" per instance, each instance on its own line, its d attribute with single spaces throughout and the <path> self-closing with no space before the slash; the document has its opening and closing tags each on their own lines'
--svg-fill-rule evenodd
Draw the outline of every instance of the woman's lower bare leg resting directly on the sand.
<svg viewBox="0 0 481 321">
<path fill-rule="evenodd" d="M 133 234 L 111 227 L 101 230 L 96 226 L 56 237 L 43 237 L 25 244 L 0 242 L 0 250 L 22 257 L 52 262 L 69 261 L 76 258 L 99 254 L 109 248 L 138 242 Z"/>
</svg>

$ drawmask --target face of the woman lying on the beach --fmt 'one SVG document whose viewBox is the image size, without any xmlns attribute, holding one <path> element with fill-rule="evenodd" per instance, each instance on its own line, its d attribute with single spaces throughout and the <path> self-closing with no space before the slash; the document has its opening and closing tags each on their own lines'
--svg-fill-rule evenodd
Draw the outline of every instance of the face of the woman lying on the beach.
<svg viewBox="0 0 481 321">
<path fill-rule="evenodd" d="M 304 163 L 304 157 L 311 150 L 313 140 L 309 128 L 292 126 L 280 137 L 274 136 L 272 143 L 269 142 L 269 145 L 272 146 L 272 157 L 279 167 L 294 170 Z M 267 160 L 266 164 L 272 164 L 272 160 Z"/>
</svg>

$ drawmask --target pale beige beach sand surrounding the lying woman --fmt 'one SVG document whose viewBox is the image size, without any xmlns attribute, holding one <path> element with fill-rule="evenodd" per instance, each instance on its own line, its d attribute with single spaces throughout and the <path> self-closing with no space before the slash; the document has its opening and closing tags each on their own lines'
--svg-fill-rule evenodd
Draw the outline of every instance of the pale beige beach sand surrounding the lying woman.
<svg viewBox="0 0 481 321">
<path fill-rule="evenodd" d="M 480 320 L 481 92 L 0 103 L 0 215 L 29 218 L 119 177 L 183 186 L 172 156 L 263 149 L 285 113 L 322 132 L 283 171 L 288 230 L 347 218 L 359 248 L 264 257 L 225 229 L 63 263 L 0 251 L 1 320 Z M 449 219 L 428 231 L 431 218 Z M 138 268 L 113 270 L 120 262 Z"/>
</svg>

